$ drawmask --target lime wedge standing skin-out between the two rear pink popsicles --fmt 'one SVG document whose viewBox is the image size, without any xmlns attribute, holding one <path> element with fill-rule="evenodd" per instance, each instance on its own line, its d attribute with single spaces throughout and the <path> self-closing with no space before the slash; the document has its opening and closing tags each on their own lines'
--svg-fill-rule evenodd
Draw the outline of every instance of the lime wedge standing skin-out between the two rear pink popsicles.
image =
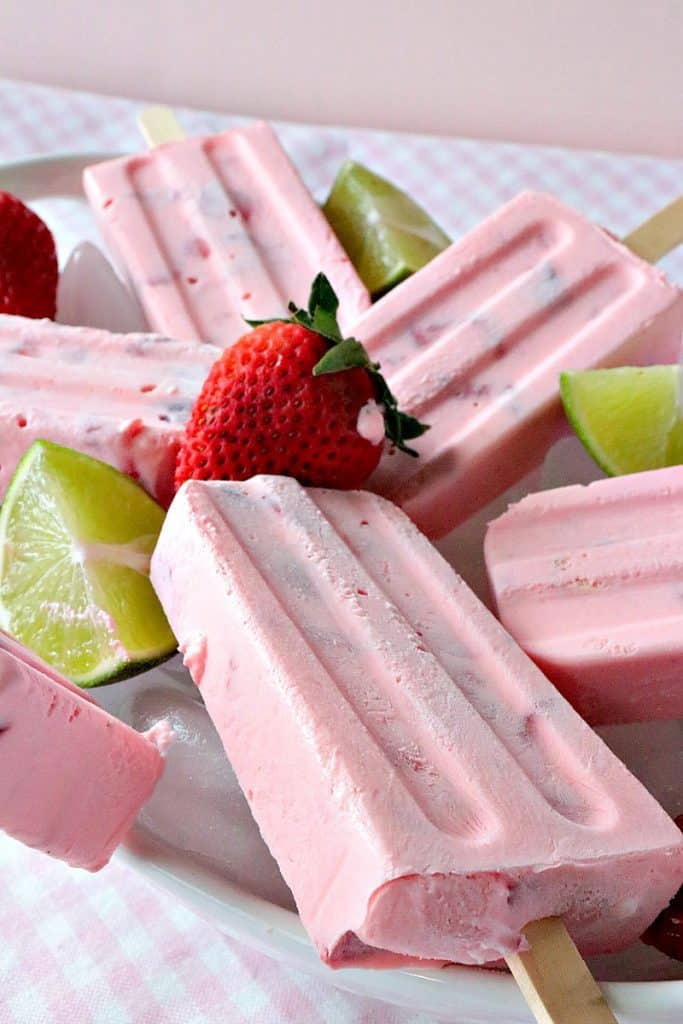
<svg viewBox="0 0 683 1024">
<path fill-rule="evenodd" d="M 323 212 L 374 299 L 451 242 L 410 196 L 350 160 L 342 165 Z"/>
</svg>

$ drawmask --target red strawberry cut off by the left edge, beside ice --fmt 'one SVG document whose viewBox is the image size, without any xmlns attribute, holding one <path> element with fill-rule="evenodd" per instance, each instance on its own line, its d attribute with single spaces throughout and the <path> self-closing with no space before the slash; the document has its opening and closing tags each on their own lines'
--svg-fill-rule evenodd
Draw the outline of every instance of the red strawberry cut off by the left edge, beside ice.
<svg viewBox="0 0 683 1024">
<path fill-rule="evenodd" d="M 53 319 L 57 276 L 47 225 L 15 196 L 0 191 L 0 312 Z"/>
</svg>

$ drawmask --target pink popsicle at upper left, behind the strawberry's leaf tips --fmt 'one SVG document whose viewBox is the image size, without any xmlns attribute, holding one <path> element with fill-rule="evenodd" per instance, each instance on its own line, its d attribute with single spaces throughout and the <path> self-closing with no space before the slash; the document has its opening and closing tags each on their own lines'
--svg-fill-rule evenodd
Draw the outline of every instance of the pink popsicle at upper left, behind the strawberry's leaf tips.
<svg viewBox="0 0 683 1024">
<path fill-rule="evenodd" d="M 86 169 L 84 186 L 150 327 L 226 348 L 245 317 L 305 306 L 324 271 L 342 327 L 370 296 L 278 141 L 255 122 Z"/>
</svg>

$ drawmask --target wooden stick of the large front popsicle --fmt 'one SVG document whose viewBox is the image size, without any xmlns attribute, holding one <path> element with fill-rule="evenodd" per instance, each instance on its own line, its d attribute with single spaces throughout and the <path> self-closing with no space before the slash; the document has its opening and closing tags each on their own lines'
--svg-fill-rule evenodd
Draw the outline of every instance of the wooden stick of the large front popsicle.
<svg viewBox="0 0 683 1024">
<path fill-rule="evenodd" d="M 559 918 L 524 929 L 529 949 L 508 967 L 539 1024 L 617 1024 Z"/>
</svg>

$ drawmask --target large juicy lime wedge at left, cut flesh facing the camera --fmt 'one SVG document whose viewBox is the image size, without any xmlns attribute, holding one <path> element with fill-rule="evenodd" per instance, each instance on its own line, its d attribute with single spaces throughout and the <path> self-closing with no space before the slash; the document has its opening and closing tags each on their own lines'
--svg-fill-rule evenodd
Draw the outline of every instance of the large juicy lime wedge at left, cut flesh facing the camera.
<svg viewBox="0 0 683 1024">
<path fill-rule="evenodd" d="M 0 510 L 0 626 L 80 686 L 162 660 L 176 643 L 147 571 L 163 521 L 123 473 L 36 441 Z"/>
</svg>

